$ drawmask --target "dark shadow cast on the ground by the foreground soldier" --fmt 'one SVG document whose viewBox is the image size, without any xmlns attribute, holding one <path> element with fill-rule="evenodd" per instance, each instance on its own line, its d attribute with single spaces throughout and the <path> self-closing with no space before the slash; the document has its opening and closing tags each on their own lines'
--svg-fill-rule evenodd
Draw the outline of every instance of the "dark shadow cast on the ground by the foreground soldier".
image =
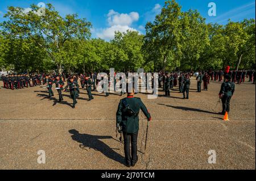
<svg viewBox="0 0 256 181">
<path fill-rule="evenodd" d="M 118 154 L 112 148 L 110 148 L 108 145 L 101 141 L 103 139 L 112 139 L 112 136 L 95 136 L 90 134 L 80 134 L 79 131 L 76 131 L 76 129 L 69 130 L 69 133 L 73 134 L 71 137 L 74 141 L 77 141 L 81 144 L 80 148 L 89 148 L 94 149 L 96 151 L 100 151 L 106 157 L 113 159 L 114 161 L 119 162 L 122 165 L 125 164 L 125 158 L 122 157 L 122 155 Z"/>
</svg>

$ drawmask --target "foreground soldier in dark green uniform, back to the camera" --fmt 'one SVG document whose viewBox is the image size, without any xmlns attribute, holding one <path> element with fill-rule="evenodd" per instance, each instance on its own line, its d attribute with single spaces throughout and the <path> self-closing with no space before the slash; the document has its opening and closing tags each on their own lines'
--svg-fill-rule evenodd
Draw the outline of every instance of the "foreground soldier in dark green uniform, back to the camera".
<svg viewBox="0 0 256 181">
<path fill-rule="evenodd" d="M 128 93 L 127 98 L 122 99 L 117 110 L 117 128 L 123 132 L 125 142 L 126 166 L 135 166 L 138 161 L 137 138 L 139 132 L 139 111 L 142 110 L 148 121 L 151 121 L 150 113 L 140 98 L 134 97 L 134 90 Z M 131 143 L 131 151 L 130 151 Z"/>
</svg>

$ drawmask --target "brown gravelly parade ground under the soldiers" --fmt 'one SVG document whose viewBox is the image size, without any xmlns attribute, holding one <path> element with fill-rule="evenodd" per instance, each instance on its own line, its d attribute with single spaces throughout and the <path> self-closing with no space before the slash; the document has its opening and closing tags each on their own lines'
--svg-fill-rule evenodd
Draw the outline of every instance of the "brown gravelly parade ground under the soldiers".
<svg viewBox="0 0 256 181">
<path fill-rule="evenodd" d="M 216 114 L 219 89 L 219 82 L 210 82 L 209 91 L 197 93 L 193 79 L 189 100 L 181 99 L 177 87 L 170 98 L 162 91 L 154 100 L 138 94 L 153 120 L 146 154 L 146 120 L 140 123 L 141 152 L 134 169 L 255 169 L 255 85 L 236 87 L 226 122 Z M 115 138 L 121 97 L 94 93 L 88 102 L 81 91 L 73 110 L 68 92 L 59 104 L 46 98 L 42 87 L 1 88 L 0 169 L 126 169 L 123 145 Z M 38 150 L 46 152 L 46 164 L 38 164 Z M 208 163 L 209 150 L 216 151 L 214 165 Z"/>
</svg>

